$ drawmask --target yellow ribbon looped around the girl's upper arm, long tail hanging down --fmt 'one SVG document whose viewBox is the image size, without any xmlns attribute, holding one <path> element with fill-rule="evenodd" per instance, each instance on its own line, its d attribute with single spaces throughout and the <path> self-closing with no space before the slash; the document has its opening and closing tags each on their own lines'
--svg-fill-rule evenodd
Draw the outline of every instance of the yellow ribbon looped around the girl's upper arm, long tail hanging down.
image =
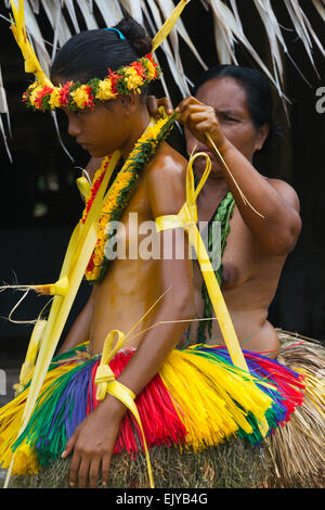
<svg viewBox="0 0 325 510">
<path fill-rule="evenodd" d="M 207 161 L 206 169 L 204 175 L 197 186 L 197 189 L 194 189 L 194 174 L 193 174 L 193 163 L 196 157 L 204 156 Z M 187 171 L 186 171 L 186 201 L 177 215 L 166 215 L 159 216 L 156 218 L 156 231 L 162 231 L 171 228 L 184 228 L 188 234 L 188 242 L 191 246 L 194 247 L 197 256 L 198 264 L 200 266 L 203 277 L 205 279 L 207 291 L 210 296 L 212 307 L 219 322 L 225 345 L 227 347 L 230 357 L 233 364 L 239 369 L 244 370 L 249 374 L 249 369 L 247 367 L 240 344 L 237 339 L 236 331 L 234 329 L 232 319 L 230 317 L 227 307 L 225 305 L 223 295 L 219 288 L 209 255 L 207 253 L 206 246 L 203 242 L 203 239 L 199 234 L 199 231 L 196 227 L 197 224 L 197 207 L 196 207 L 196 197 L 205 184 L 211 170 L 211 162 L 209 156 L 199 152 L 190 158 Z M 269 425 L 266 419 L 259 424 L 259 429 L 263 436 L 266 435 L 269 431 Z"/>
</svg>

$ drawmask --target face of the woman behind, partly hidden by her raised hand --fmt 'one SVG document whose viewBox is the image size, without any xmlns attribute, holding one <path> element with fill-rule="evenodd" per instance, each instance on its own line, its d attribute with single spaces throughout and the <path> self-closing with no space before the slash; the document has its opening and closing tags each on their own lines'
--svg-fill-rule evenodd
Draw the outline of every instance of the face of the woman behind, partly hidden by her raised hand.
<svg viewBox="0 0 325 510">
<path fill-rule="evenodd" d="M 262 148 L 269 127 L 264 125 L 257 129 L 253 125 L 244 87 L 230 77 L 214 78 L 199 87 L 196 99 L 214 109 L 226 139 L 251 162 L 255 152 Z M 187 129 L 185 129 L 185 138 L 187 154 L 190 155 L 193 150 L 208 152 L 212 163 L 212 173 L 221 175 L 221 167 L 214 155 Z M 196 160 L 195 167 L 199 173 L 205 169 L 205 166 L 204 158 Z"/>
</svg>

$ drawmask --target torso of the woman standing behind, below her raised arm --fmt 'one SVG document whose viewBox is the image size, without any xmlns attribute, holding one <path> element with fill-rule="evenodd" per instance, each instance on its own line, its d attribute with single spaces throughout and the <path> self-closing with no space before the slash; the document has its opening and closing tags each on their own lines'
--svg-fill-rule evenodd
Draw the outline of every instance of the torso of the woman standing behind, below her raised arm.
<svg viewBox="0 0 325 510">
<path fill-rule="evenodd" d="M 199 221 L 210 219 L 216 211 L 216 201 L 212 204 L 212 201 L 210 202 L 209 197 L 206 200 L 205 196 L 204 204 L 198 207 Z M 263 252 L 235 205 L 222 257 L 221 290 L 242 347 L 268 353 L 270 357 L 277 354 L 278 339 L 275 329 L 266 320 L 268 309 L 274 297 L 285 258 L 270 256 Z M 195 263 L 194 289 L 198 318 L 204 315 L 203 281 L 199 266 Z M 198 322 L 191 327 L 191 343 L 197 340 L 197 324 Z M 212 336 L 208 343 L 220 342 L 224 343 L 214 319 Z"/>
</svg>

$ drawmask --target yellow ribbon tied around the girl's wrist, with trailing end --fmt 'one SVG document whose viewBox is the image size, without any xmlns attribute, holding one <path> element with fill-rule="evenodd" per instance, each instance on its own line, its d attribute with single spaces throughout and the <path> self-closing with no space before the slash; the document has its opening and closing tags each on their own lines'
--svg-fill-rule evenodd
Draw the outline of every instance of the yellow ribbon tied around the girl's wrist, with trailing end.
<svg viewBox="0 0 325 510">
<path fill-rule="evenodd" d="M 117 337 L 117 342 L 115 344 L 115 347 L 113 347 L 113 342 L 116 337 Z M 154 479 L 153 479 L 151 459 L 150 459 L 147 445 L 146 445 L 146 441 L 145 441 L 145 436 L 144 436 L 144 432 L 143 432 L 143 428 L 141 423 L 141 418 L 140 418 L 136 405 L 134 403 L 135 395 L 127 386 L 121 384 L 119 381 L 116 381 L 112 369 L 108 367 L 109 361 L 113 359 L 115 354 L 125 344 L 126 344 L 126 335 L 119 330 L 113 330 L 106 336 L 105 342 L 104 342 L 101 364 L 98 367 L 98 370 L 95 373 L 95 380 L 94 380 L 94 383 L 98 386 L 96 399 L 103 400 L 105 398 L 106 393 L 108 393 L 109 395 L 113 395 L 115 398 L 120 400 L 134 416 L 142 433 L 151 488 L 154 488 Z"/>
</svg>

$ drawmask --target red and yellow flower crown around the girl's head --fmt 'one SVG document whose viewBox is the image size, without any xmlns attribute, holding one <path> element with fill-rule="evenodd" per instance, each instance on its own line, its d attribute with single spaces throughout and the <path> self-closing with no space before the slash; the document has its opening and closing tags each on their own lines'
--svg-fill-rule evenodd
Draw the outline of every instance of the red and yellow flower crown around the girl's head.
<svg viewBox="0 0 325 510">
<path fill-rule="evenodd" d="M 23 94 L 23 101 L 34 110 L 52 111 L 65 107 L 72 111 L 93 109 L 99 101 L 116 99 L 131 91 L 141 92 L 141 88 L 159 78 L 161 72 L 150 53 L 132 64 L 113 72 L 104 79 L 92 78 L 87 84 L 67 81 L 54 87 L 39 81 L 31 84 Z"/>
</svg>

